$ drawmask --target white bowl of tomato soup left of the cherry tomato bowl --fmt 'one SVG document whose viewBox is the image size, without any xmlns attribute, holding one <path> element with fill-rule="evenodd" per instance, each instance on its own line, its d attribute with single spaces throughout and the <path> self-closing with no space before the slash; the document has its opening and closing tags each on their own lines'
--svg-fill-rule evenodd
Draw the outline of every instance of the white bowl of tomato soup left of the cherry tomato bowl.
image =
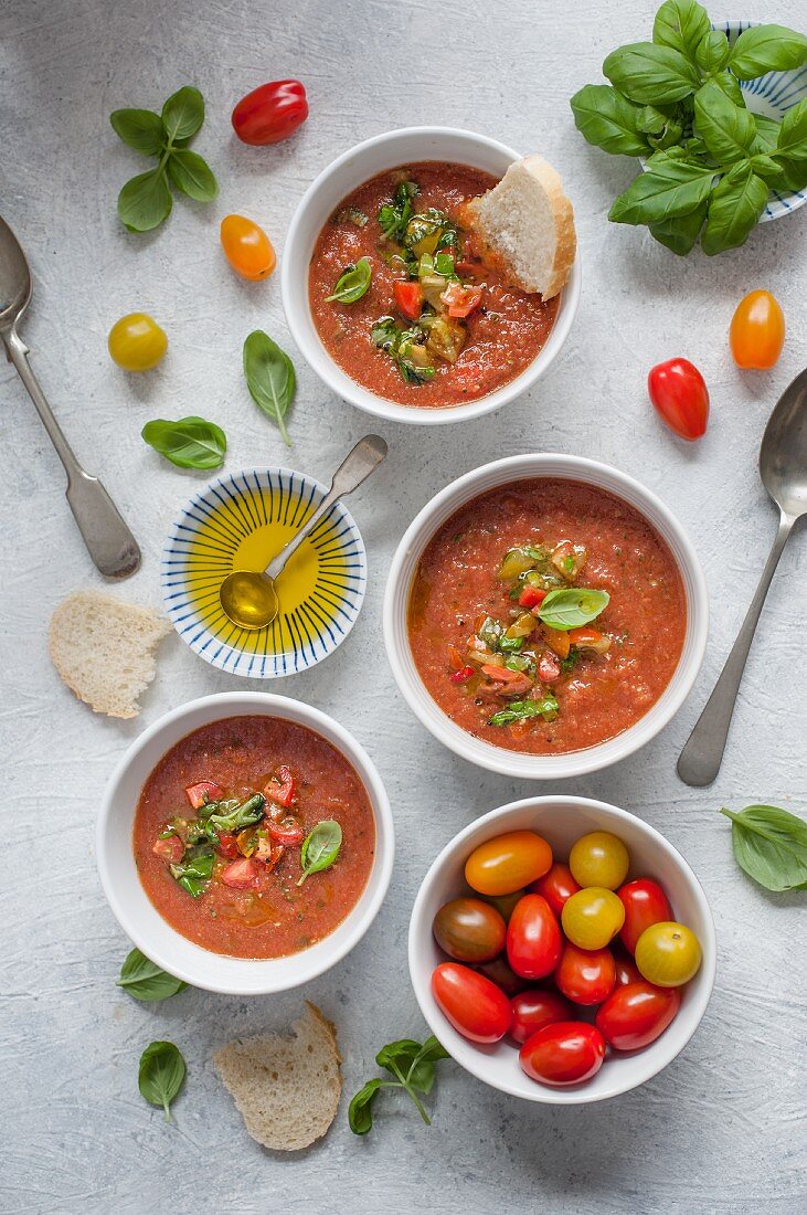
<svg viewBox="0 0 807 1215">
<path fill-rule="evenodd" d="M 101 882 L 121 928 L 193 987 L 265 994 L 353 948 L 386 894 L 387 796 L 359 744 L 300 701 L 223 693 L 146 730 L 109 780 Z"/>
</svg>

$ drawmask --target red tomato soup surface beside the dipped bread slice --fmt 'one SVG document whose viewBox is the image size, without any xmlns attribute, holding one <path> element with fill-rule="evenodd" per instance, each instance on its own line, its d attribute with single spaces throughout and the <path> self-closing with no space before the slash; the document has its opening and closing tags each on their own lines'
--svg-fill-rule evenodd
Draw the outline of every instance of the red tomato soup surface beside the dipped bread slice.
<svg viewBox="0 0 807 1215">
<path fill-rule="evenodd" d="M 546 344 L 558 298 L 510 286 L 461 227 L 464 205 L 495 185 L 479 169 L 425 162 L 365 181 L 336 209 L 308 292 L 325 349 L 357 384 L 400 405 L 462 405 Z M 362 273 L 343 278 L 351 267 Z"/>
</svg>

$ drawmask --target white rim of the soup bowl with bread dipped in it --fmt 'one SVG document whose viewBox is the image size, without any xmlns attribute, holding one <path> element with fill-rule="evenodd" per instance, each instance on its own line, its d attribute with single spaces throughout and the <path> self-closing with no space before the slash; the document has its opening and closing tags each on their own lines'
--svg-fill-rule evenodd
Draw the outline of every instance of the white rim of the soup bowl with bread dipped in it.
<svg viewBox="0 0 807 1215">
<path fill-rule="evenodd" d="M 493 413 L 495 409 L 508 405 L 512 400 L 530 389 L 552 366 L 566 345 L 566 340 L 574 323 L 580 303 L 580 247 L 578 243 L 569 279 L 561 292 L 561 303 L 557 316 L 555 318 L 555 324 L 550 330 L 546 345 L 539 351 L 533 362 L 529 363 L 515 379 L 476 401 L 470 401 L 467 405 L 445 406 L 442 408 L 424 408 L 422 406 L 399 405 L 397 401 L 388 401 L 385 397 L 376 396 L 374 392 L 370 392 L 369 389 L 358 384 L 349 375 L 347 375 L 341 367 L 339 367 L 317 333 L 313 318 L 311 317 L 311 307 L 308 303 L 309 250 L 302 243 L 301 227 L 308 209 L 316 204 L 320 192 L 328 187 L 331 177 L 337 174 L 339 170 L 356 158 L 365 157 L 373 153 L 376 148 L 383 147 L 385 145 L 394 146 L 396 143 L 413 137 L 458 140 L 464 141 L 465 143 L 476 143 L 477 147 L 485 148 L 489 152 L 495 152 L 499 156 L 507 158 L 510 162 L 522 159 L 521 153 L 516 152 L 506 143 L 501 143 L 499 140 L 491 139 L 488 135 L 479 135 L 476 131 L 466 130 L 464 128 L 453 126 L 402 126 L 391 131 L 382 131 L 381 134 L 374 135 L 368 140 L 363 140 L 360 143 L 356 143 L 353 147 L 347 148 L 347 151 L 336 157 L 335 160 L 331 160 L 330 164 L 328 164 L 317 175 L 297 203 L 286 230 L 283 264 L 280 267 L 280 294 L 286 326 L 295 345 L 297 346 L 297 350 L 305 358 L 308 367 L 311 367 L 314 374 L 318 375 L 322 383 L 331 392 L 348 401 L 358 409 L 363 409 L 365 413 L 377 418 L 385 418 L 387 422 L 400 422 L 410 425 L 426 426 L 450 425 L 455 422 L 468 422 L 473 418 L 483 417 L 487 413 Z M 404 158 L 404 160 L 405 159 L 407 158 Z M 455 163 L 465 163 L 459 153 Z M 393 168 L 393 165 L 390 168 Z M 383 169 L 379 169 L 376 173 L 370 173 L 366 176 L 363 176 L 362 171 L 358 171 L 356 174 L 356 185 L 358 186 L 364 181 L 369 181 L 373 176 L 376 176 L 377 173 L 383 171 Z M 337 202 L 339 199 L 336 203 Z M 336 205 L 336 203 L 334 205 Z M 313 339 L 309 339 L 309 334 L 305 329 L 305 326 L 299 322 L 295 301 L 300 303 L 300 311 L 307 312 L 311 320 L 314 333 Z"/>
</svg>

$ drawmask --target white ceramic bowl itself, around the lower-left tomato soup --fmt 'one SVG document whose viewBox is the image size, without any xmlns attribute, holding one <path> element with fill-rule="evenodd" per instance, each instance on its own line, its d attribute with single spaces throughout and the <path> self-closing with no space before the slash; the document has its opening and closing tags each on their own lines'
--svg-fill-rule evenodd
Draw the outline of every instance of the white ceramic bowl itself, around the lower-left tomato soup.
<svg viewBox="0 0 807 1215">
<path fill-rule="evenodd" d="M 376 850 L 368 885 L 339 927 L 309 949 L 289 957 L 226 957 L 201 949 L 176 932 L 150 903 L 135 868 L 132 823 L 143 784 L 180 739 L 227 717 L 280 717 L 314 730 L 349 761 L 366 789 L 375 814 Z M 96 831 L 101 885 L 118 923 L 147 957 L 193 987 L 229 995 L 267 995 L 299 987 L 340 961 L 373 923 L 390 886 L 394 829 L 390 802 L 375 764 L 331 717 L 288 696 L 220 693 L 166 713 L 129 747 L 104 792 Z"/>
</svg>

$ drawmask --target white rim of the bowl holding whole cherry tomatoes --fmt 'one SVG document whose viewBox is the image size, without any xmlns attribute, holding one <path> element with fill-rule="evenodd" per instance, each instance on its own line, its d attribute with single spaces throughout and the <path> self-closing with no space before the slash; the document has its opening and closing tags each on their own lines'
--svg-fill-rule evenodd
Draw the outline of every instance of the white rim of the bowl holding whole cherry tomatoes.
<svg viewBox="0 0 807 1215">
<path fill-rule="evenodd" d="M 454 1061 L 471 1075 L 476 1076 L 477 1080 L 482 1080 L 482 1083 L 487 1084 L 489 1087 L 496 1089 L 500 1092 L 506 1092 L 512 1097 L 519 1097 L 523 1101 L 535 1101 L 541 1104 L 550 1104 L 550 1106 L 593 1104 L 595 1102 L 608 1101 L 610 1100 L 610 1097 L 618 1097 L 621 1094 L 630 1092 L 632 1089 L 638 1089 L 641 1085 L 647 1084 L 648 1080 L 653 1079 L 653 1076 L 658 1075 L 659 1072 L 663 1072 L 664 1068 L 667 1067 L 667 1064 L 671 1063 L 672 1059 L 676 1058 L 681 1053 L 681 1051 L 684 1050 L 684 1047 L 694 1035 L 695 1030 L 700 1025 L 700 1022 L 704 1018 L 704 1013 L 706 1012 L 706 1007 L 711 999 L 712 989 L 715 985 L 715 976 L 717 971 L 717 937 L 715 932 L 715 919 L 712 916 L 711 908 L 704 893 L 703 886 L 698 881 L 698 877 L 695 876 L 692 866 L 688 864 L 686 858 L 678 852 L 678 849 L 670 843 L 666 836 L 661 835 L 661 832 L 657 827 L 652 826 L 644 819 L 640 818 L 637 814 L 631 814 L 629 810 L 624 810 L 621 807 L 614 806 L 610 802 L 602 802 L 598 798 L 576 797 L 574 795 L 545 795 L 540 797 L 524 797 L 515 802 L 507 802 L 504 806 L 498 806 L 495 809 L 489 810 L 481 818 L 474 819 L 472 823 L 468 823 L 465 827 L 462 827 L 461 831 L 458 831 L 458 833 L 453 836 L 451 840 L 448 841 L 444 848 L 441 849 L 441 852 L 437 854 L 437 857 L 430 865 L 425 877 L 420 883 L 420 888 L 415 897 L 415 902 L 413 904 L 411 914 L 409 917 L 409 933 L 408 933 L 409 977 L 420 1011 L 426 1023 L 428 1024 L 430 1029 L 443 1044 L 443 1046 L 445 1046 L 445 1049 L 449 1050 L 449 1047 L 447 1046 L 447 1038 L 453 1040 L 451 1035 L 456 1035 L 460 1042 L 465 1042 L 465 1039 L 462 1039 L 459 1032 L 455 1030 L 445 1021 L 444 1017 L 441 1016 L 441 1019 L 438 1022 L 437 1018 L 432 1016 L 431 1006 L 424 999 L 424 988 L 421 985 L 419 977 L 420 942 L 422 939 L 424 933 L 428 933 L 431 937 L 431 923 L 428 925 L 422 923 L 425 914 L 424 908 L 431 893 L 431 886 L 434 883 L 443 865 L 449 859 L 451 859 L 458 852 L 460 852 L 462 846 L 471 836 L 479 832 L 481 830 L 482 832 L 484 832 L 485 829 L 489 826 L 493 827 L 494 825 L 500 825 L 504 819 L 513 814 L 517 814 L 521 810 L 541 809 L 542 807 L 550 807 L 550 806 L 556 809 L 559 808 L 561 810 L 570 807 L 582 807 L 597 814 L 604 815 L 606 820 L 612 825 L 614 820 L 615 823 L 629 821 L 632 827 L 638 829 L 641 833 L 646 833 L 649 837 L 649 840 L 652 840 L 653 843 L 657 847 L 659 847 L 666 857 L 671 857 L 674 863 L 680 868 L 681 872 L 683 874 L 687 881 L 687 885 L 689 886 L 692 894 L 694 895 L 695 903 L 698 904 L 706 929 L 703 936 L 703 939 L 700 940 L 703 960 L 699 971 L 699 973 L 703 973 L 705 982 L 703 982 L 701 979 L 698 993 L 694 998 L 694 1011 L 697 1016 L 693 1017 L 693 1024 L 687 1032 L 684 1032 L 684 1036 L 682 1038 L 681 1041 L 675 1040 L 675 1045 L 671 1045 L 674 1042 L 674 1039 L 669 1040 L 667 1050 L 661 1052 L 661 1058 L 658 1066 L 648 1068 L 647 1075 L 643 1075 L 638 1080 L 631 1081 L 630 1084 L 618 1085 L 613 1089 L 613 1091 L 602 1094 L 591 1092 L 591 1090 L 586 1089 L 585 1086 L 575 1085 L 568 1089 L 551 1089 L 549 1086 L 535 1084 L 535 1095 L 534 1096 L 530 1095 L 528 1097 L 508 1083 L 493 1084 L 487 1075 L 482 1074 L 481 1069 L 470 1066 L 465 1058 L 458 1059 L 456 1056 L 451 1055 Z M 501 830 L 504 831 L 506 830 L 506 827 L 501 826 Z M 494 838 L 494 836 L 493 833 L 490 835 L 483 833 L 479 837 L 478 842 L 482 843 L 484 838 Z M 448 1027 L 448 1033 L 447 1033 L 447 1027 Z M 663 1038 L 659 1039 L 659 1041 L 664 1041 L 665 1039 L 666 1039 L 666 1033 L 665 1035 L 663 1035 Z M 466 1045 L 472 1046 L 473 1044 L 467 1042 Z M 470 1057 L 473 1061 L 476 1059 L 477 1056 L 474 1053 L 471 1053 Z M 487 1056 L 482 1053 L 479 1053 L 478 1057 L 487 1058 Z M 637 1058 L 638 1055 L 636 1052 L 631 1052 L 630 1057 Z"/>
</svg>

